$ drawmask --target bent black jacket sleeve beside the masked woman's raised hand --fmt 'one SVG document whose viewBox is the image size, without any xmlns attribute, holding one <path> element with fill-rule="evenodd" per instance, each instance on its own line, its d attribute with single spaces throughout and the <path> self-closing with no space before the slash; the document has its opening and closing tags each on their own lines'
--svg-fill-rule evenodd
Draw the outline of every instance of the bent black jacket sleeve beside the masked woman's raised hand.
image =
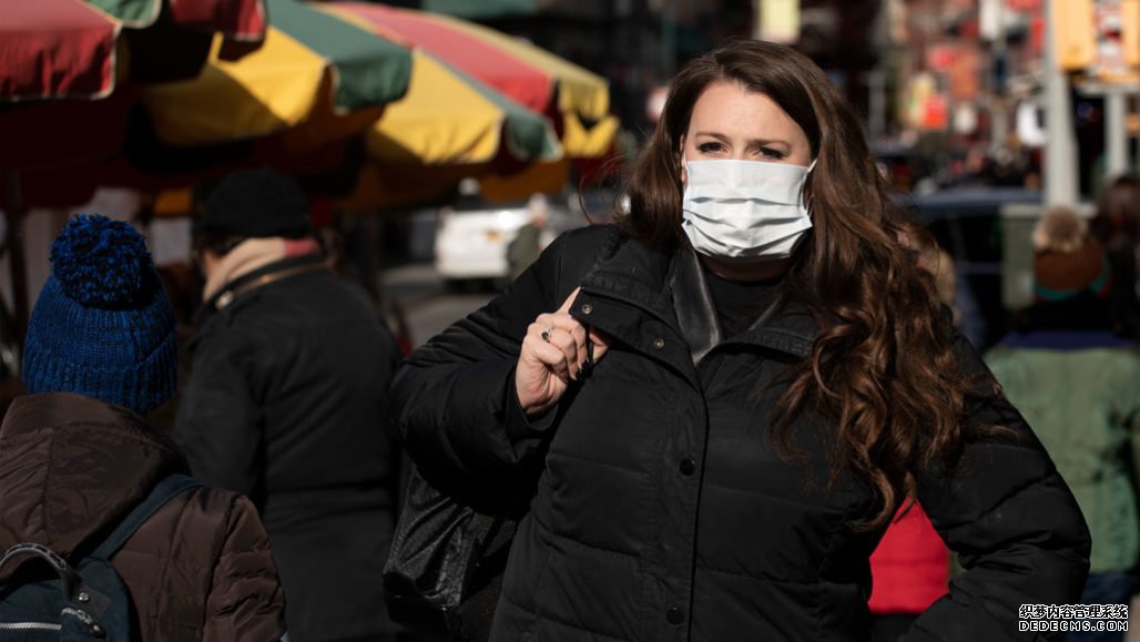
<svg viewBox="0 0 1140 642">
<path fill-rule="evenodd" d="M 565 238 L 556 238 L 499 296 L 416 349 L 397 372 L 393 422 L 421 468 L 504 472 L 537 449 L 542 430 L 519 407 L 514 366 L 527 326 L 556 310 L 577 285 L 559 285 Z"/>
</svg>

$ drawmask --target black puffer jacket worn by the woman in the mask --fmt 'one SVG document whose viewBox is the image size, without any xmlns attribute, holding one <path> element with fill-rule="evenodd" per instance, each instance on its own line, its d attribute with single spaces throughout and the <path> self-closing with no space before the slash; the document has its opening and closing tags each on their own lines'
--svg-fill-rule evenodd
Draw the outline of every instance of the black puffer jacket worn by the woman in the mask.
<svg viewBox="0 0 1140 642">
<path fill-rule="evenodd" d="M 626 242 L 583 276 L 612 237 L 561 237 L 500 298 L 414 352 L 393 385 L 417 462 L 486 474 L 545 456 L 492 640 L 864 639 L 868 556 L 882 533 L 852 525 L 873 502 L 849 477 L 828 487 L 828 426 L 793 425 L 811 470 L 766 437 L 781 392 L 768 385 L 809 353 L 812 318 L 788 304 L 719 341 L 690 252 Z M 512 385 L 520 340 L 579 284 L 571 314 L 616 343 L 537 430 Z M 964 368 L 984 367 L 959 348 Z M 1027 639 L 1020 604 L 1072 603 L 1084 584 L 1088 530 L 1052 462 L 1003 399 L 974 413 L 1012 432 L 969 444 L 954 477 L 921 480 L 922 506 L 969 571 L 911 640 Z"/>
</svg>

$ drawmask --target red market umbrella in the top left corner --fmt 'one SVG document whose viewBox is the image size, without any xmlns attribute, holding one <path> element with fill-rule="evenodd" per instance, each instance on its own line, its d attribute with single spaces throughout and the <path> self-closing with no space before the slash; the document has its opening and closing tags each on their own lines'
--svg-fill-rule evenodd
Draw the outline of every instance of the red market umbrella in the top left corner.
<svg viewBox="0 0 1140 642">
<path fill-rule="evenodd" d="M 213 34 L 236 56 L 259 44 L 264 29 L 261 0 L 0 2 L 0 206 L 21 332 L 28 309 L 21 173 L 67 166 L 80 173 L 114 154 L 130 86 L 192 76 Z"/>
</svg>

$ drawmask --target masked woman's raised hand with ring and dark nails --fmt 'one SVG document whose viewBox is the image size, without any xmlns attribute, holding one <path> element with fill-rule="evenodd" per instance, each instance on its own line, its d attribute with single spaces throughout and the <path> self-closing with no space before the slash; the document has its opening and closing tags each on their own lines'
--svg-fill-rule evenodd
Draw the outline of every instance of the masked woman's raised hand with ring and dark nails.
<svg viewBox="0 0 1140 642">
<path fill-rule="evenodd" d="M 575 289 L 555 312 L 538 315 L 527 327 L 522 339 L 522 351 L 514 369 L 514 388 L 519 392 L 519 404 L 528 415 L 536 415 L 556 404 L 577 380 L 586 360 L 587 330 L 570 316 L 570 303 L 578 295 Z M 609 349 L 602 333 L 591 330 L 589 341 L 594 344 L 594 363 Z"/>
</svg>

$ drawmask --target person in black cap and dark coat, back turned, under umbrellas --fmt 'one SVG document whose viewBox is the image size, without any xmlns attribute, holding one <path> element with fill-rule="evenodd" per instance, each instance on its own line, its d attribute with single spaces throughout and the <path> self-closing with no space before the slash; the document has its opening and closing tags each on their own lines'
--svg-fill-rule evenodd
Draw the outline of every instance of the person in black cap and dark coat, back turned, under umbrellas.
<svg viewBox="0 0 1140 642">
<path fill-rule="evenodd" d="M 196 476 L 260 510 L 291 642 L 392 639 L 380 576 L 396 342 L 364 289 L 328 270 L 293 179 L 231 174 L 194 236 L 206 285 L 176 438 Z"/>
</svg>

